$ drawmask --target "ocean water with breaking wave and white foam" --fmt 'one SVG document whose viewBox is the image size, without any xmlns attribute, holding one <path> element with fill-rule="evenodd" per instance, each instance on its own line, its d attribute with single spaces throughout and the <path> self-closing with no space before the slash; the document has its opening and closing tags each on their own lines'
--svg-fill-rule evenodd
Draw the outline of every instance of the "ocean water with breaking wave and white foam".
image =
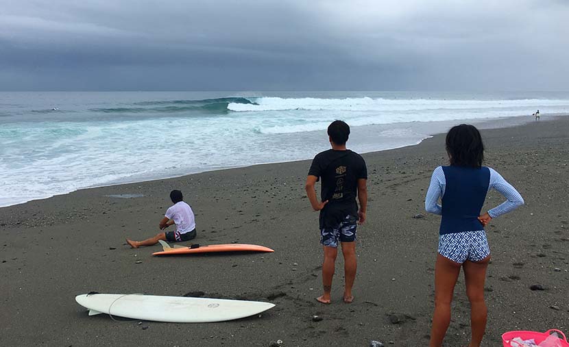
<svg viewBox="0 0 569 347">
<path fill-rule="evenodd" d="M 0 92 L 0 206 L 80 188 L 310 159 L 326 127 L 361 153 L 417 144 L 453 124 L 540 110 L 569 92 Z"/>
</svg>

